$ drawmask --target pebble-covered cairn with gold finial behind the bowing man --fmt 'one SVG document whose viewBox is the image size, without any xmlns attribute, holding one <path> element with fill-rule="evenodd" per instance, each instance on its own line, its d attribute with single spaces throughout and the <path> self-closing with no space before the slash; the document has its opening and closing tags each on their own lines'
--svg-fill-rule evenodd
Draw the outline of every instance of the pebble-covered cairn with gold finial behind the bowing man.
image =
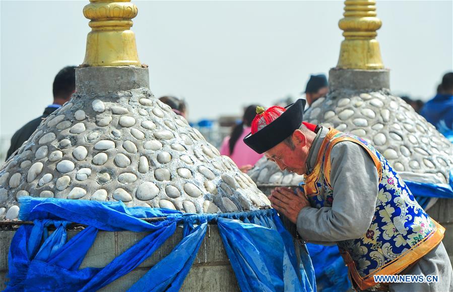
<svg viewBox="0 0 453 292">
<path fill-rule="evenodd" d="M 345 3 L 339 22 L 345 40 L 337 68 L 329 73 L 330 93 L 311 104 L 304 120 L 364 138 L 403 179 L 446 184 L 453 147 L 409 104 L 391 95 L 389 70 L 383 69 L 375 39 L 381 26 L 375 10 L 372 0 Z M 267 184 L 294 186 L 287 172 L 265 158 L 248 174 L 263 191 Z"/>
</svg>

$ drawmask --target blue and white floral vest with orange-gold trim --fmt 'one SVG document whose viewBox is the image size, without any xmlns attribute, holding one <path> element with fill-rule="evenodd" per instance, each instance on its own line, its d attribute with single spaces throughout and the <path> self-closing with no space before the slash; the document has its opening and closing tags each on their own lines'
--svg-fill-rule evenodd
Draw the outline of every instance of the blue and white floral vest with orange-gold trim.
<svg viewBox="0 0 453 292">
<path fill-rule="evenodd" d="M 373 159 L 379 177 L 376 208 L 368 230 L 358 239 L 338 243 L 350 276 L 364 290 L 377 284 L 373 275 L 397 274 L 431 251 L 442 240 L 445 229 L 418 205 L 398 173 L 374 147 L 335 129 L 323 140 L 313 171 L 305 178 L 304 191 L 312 207 L 333 204 L 330 153 L 342 141 L 362 146 Z"/>
</svg>

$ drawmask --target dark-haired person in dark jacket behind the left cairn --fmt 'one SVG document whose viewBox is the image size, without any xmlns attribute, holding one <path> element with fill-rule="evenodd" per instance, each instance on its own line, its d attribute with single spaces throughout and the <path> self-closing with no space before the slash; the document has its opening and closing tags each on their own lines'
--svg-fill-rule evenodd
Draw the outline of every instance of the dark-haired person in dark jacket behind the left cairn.
<svg viewBox="0 0 453 292">
<path fill-rule="evenodd" d="M 19 149 L 28 138 L 30 138 L 31 134 L 36 131 L 42 120 L 71 99 L 71 96 L 76 91 L 76 66 L 67 66 L 58 72 L 53 80 L 52 91 L 53 103 L 44 109 L 41 116 L 31 120 L 14 133 L 11 138 L 11 146 L 7 153 L 7 159 Z"/>
</svg>

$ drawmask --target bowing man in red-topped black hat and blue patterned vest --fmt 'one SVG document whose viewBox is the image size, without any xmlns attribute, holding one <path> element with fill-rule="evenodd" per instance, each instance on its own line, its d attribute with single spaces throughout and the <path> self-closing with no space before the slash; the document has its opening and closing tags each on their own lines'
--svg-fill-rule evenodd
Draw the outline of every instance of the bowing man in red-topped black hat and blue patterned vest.
<svg viewBox="0 0 453 292">
<path fill-rule="evenodd" d="M 276 188 L 270 197 L 296 224 L 299 240 L 337 244 L 357 290 L 452 291 L 444 228 L 376 149 L 354 135 L 302 123 L 304 106 L 299 99 L 287 108 L 257 108 L 244 138 L 282 170 L 305 175 L 303 191 Z M 438 281 L 374 278 L 397 274 L 437 275 Z"/>
</svg>

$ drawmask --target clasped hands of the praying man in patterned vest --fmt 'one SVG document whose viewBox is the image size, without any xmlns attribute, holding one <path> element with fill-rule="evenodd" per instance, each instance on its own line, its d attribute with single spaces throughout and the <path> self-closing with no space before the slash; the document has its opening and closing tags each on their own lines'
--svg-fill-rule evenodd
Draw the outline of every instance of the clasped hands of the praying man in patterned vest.
<svg viewBox="0 0 453 292">
<path fill-rule="evenodd" d="M 300 188 L 296 189 L 297 195 L 290 188 L 278 187 L 271 192 L 269 200 L 272 207 L 285 215 L 296 224 L 297 216 L 302 208 L 310 206 L 307 197 Z"/>
</svg>

